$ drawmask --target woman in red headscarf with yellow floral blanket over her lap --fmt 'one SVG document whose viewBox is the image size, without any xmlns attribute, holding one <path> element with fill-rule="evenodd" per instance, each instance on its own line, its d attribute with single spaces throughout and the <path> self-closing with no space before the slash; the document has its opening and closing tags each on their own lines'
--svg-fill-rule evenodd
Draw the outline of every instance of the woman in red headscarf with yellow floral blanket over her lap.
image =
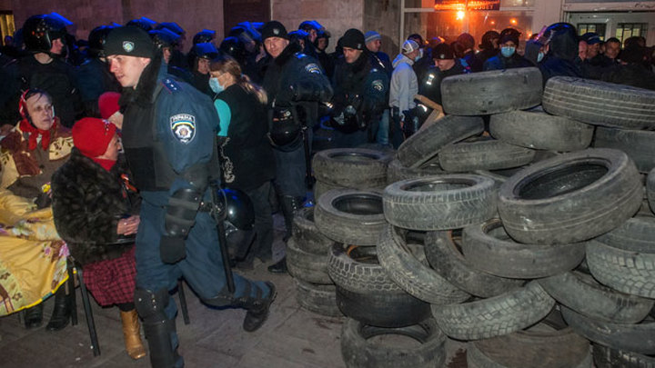
<svg viewBox="0 0 655 368">
<path fill-rule="evenodd" d="M 48 330 L 68 323 L 67 248 L 55 231 L 50 178 L 65 163 L 73 140 L 59 124 L 52 97 L 30 89 L 20 98 L 22 120 L 0 141 L 0 315 L 27 309 L 25 326 L 41 325 L 43 300 L 55 293 Z"/>
</svg>

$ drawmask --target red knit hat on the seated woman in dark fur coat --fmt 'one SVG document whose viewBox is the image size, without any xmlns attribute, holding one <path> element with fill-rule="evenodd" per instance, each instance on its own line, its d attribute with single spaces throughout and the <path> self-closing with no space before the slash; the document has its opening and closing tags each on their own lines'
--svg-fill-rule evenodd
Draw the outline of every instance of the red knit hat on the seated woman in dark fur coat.
<svg viewBox="0 0 655 368">
<path fill-rule="evenodd" d="M 106 153 L 106 147 L 116 134 L 116 125 L 96 117 L 78 120 L 72 129 L 73 144 L 86 157 L 94 158 Z"/>
</svg>

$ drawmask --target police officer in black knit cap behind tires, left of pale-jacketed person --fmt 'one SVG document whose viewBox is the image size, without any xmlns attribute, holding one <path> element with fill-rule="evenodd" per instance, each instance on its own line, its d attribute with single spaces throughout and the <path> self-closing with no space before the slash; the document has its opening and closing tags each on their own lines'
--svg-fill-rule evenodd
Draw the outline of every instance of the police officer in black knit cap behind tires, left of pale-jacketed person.
<svg viewBox="0 0 655 368">
<path fill-rule="evenodd" d="M 371 62 L 361 31 L 348 29 L 341 45 L 344 62 L 337 65 L 332 78 L 334 145 L 356 147 L 375 141 L 387 104 L 389 80 L 387 73 Z"/>
</svg>

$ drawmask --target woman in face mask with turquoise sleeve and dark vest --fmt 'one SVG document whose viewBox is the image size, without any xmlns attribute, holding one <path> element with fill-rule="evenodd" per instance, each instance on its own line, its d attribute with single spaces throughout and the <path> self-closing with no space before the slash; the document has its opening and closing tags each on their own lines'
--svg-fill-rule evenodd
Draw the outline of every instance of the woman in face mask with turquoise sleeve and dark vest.
<svg viewBox="0 0 655 368">
<path fill-rule="evenodd" d="M 267 139 L 267 95 L 241 73 L 241 67 L 230 56 L 213 59 L 209 70 L 209 86 L 217 94 L 214 106 L 220 117 L 218 136 L 223 137 L 220 139 L 223 183 L 246 192 L 255 208 L 255 243 L 242 257 L 241 264 L 237 264 L 252 268 L 256 256 L 262 262 L 271 259 L 273 244 L 268 193 L 275 176 L 275 160 Z M 238 255 L 246 252 L 247 249 L 237 250 Z"/>
</svg>

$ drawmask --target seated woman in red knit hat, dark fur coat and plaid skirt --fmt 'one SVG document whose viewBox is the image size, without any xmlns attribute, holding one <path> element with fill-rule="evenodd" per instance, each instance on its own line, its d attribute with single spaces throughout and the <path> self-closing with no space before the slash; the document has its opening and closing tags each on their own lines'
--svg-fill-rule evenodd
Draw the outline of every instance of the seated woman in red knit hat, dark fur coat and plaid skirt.
<svg viewBox="0 0 655 368">
<path fill-rule="evenodd" d="M 118 306 L 126 351 L 139 359 L 146 349 L 133 303 L 138 197 L 125 182 L 126 166 L 118 160 L 116 125 L 86 117 L 73 126 L 73 141 L 70 159 L 53 175 L 55 225 L 82 264 L 96 301 Z"/>
</svg>

